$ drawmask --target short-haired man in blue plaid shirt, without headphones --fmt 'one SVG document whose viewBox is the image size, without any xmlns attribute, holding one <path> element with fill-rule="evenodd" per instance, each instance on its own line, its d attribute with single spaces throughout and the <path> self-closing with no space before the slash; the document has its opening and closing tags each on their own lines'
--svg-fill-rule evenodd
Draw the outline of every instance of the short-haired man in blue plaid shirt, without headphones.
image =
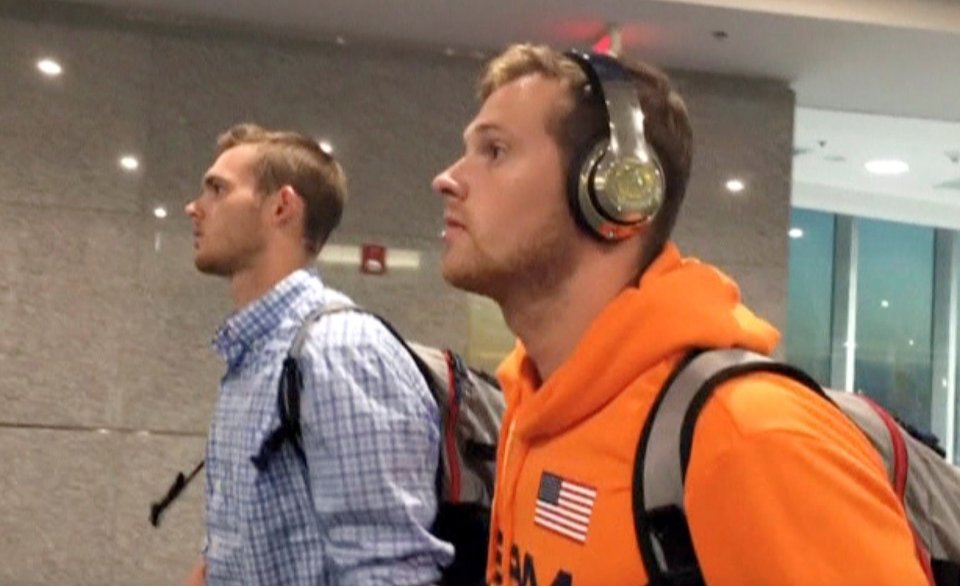
<svg viewBox="0 0 960 586">
<path fill-rule="evenodd" d="M 224 375 L 207 444 L 207 540 L 190 584 L 430 584 L 453 557 L 430 534 L 439 413 L 375 318 L 339 312 L 301 358 L 306 466 L 280 426 L 281 364 L 305 316 L 349 304 L 309 267 L 346 198 L 315 141 L 239 125 L 221 136 L 193 220 L 194 262 L 226 277 L 236 311 L 214 340 Z"/>
</svg>

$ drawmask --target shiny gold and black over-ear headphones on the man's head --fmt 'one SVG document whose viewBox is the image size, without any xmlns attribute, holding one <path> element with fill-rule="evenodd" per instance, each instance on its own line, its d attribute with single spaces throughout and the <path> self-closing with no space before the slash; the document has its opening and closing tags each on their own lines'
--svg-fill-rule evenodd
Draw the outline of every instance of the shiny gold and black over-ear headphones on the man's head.
<svg viewBox="0 0 960 586">
<path fill-rule="evenodd" d="M 632 76 L 614 57 L 564 54 L 587 76 L 605 106 L 610 132 L 573 158 L 568 196 L 580 224 L 602 240 L 637 233 L 663 204 L 663 168 L 644 137 L 643 109 Z"/>
</svg>

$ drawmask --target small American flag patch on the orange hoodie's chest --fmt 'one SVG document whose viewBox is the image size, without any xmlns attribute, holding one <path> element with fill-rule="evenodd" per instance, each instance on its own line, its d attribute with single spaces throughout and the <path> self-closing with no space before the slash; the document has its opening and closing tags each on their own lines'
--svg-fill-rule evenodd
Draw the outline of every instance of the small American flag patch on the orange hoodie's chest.
<svg viewBox="0 0 960 586">
<path fill-rule="evenodd" d="M 587 540 L 587 528 L 597 489 L 544 472 L 540 476 L 540 492 L 533 522 L 569 537 L 578 543 Z"/>
</svg>

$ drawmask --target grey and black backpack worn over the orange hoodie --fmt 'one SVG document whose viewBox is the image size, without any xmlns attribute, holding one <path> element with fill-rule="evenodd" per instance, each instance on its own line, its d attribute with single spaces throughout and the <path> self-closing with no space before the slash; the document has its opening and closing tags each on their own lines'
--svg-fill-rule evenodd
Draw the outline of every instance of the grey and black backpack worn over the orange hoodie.
<svg viewBox="0 0 960 586">
<path fill-rule="evenodd" d="M 651 586 L 701 585 L 683 507 L 697 419 L 722 383 L 751 372 L 794 379 L 834 403 L 883 457 L 931 584 L 960 586 L 960 469 L 863 395 L 823 389 L 802 370 L 739 349 L 691 354 L 670 376 L 644 424 L 633 471 L 634 529 Z"/>
</svg>

